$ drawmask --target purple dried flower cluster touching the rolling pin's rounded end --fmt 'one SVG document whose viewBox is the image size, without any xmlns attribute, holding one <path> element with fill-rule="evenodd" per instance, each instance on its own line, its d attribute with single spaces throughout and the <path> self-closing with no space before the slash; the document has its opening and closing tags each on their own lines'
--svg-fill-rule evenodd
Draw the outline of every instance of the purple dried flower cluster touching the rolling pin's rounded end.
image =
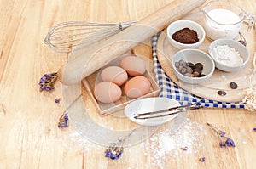
<svg viewBox="0 0 256 169">
<path fill-rule="evenodd" d="M 54 89 L 54 83 L 57 80 L 57 73 L 44 74 L 39 80 L 40 91 L 51 91 Z"/>
</svg>

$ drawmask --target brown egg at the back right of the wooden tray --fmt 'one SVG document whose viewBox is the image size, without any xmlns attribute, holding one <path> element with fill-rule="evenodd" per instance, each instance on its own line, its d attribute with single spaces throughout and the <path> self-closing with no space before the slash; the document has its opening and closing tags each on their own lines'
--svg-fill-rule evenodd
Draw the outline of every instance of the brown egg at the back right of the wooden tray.
<svg viewBox="0 0 256 169">
<path fill-rule="evenodd" d="M 120 66 L 127 71 L 130 76 L 140 76 L 146 71 L 143 59 L 136 56 L 127 56 L 120 61 Z"/>
</svg>

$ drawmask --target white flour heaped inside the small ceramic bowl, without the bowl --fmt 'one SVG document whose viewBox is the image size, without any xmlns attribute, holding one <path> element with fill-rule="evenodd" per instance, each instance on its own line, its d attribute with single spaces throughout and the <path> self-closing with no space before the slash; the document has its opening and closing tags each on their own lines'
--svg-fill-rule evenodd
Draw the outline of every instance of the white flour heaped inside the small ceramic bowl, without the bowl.
<svg viewBox="0 0 256 169">
<path fill-rule="evenodd" d="M 210 52 L 213 58 L 217 59 L 220 63 L 224 65 L 241 65 L 243 59 L 239 52 L 235 48 L 231 48 L 228 45 L 219 45 L 212 48 Z"/>
</svg>

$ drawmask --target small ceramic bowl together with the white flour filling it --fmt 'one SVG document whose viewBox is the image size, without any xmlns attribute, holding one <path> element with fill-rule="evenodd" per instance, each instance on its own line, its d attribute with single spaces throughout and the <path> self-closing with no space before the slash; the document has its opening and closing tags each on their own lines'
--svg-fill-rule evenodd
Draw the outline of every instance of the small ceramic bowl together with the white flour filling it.
<svg viewBox="0 0 256 169">
<path fill-rule="evenodd" d="M 249 53 L 240 42 L 231 39 L 213 41 L 208 52 L 218 70 L 234 72 L 243 69 L 249 60 Z"/>
</svg>

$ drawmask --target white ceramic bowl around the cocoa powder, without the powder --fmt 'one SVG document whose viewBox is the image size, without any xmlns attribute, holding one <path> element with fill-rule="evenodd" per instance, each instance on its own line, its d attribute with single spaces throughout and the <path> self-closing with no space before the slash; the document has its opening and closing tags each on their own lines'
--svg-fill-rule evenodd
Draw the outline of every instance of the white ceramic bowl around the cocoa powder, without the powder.
<svg viewBox="0 0 256 169">
<path fill-rule="evenodd" d="M 172 38 L 172 35 L 179 30 L 182 30 L 183 28 L 189 28 L 190 30 L 194 30 L 197 33 L 197 37 L 199 39 L 198 42 L 191 43 L 191 44 L 185 44 L 181 42 L 177 42 Z M 201 25 L 196 23 L 195 21 L 192 20 L 177 20 L 172 22 L 170 25 L 167 27 L 167 37 L 169 42 L 171 42 L 172 46 L 177 49 L 182 49 L 182 48 L 197 48 L 201 45 L 201 43 L 205 40 L 206 37 L 206 32 L 203 29 Z"/>
</svg>

